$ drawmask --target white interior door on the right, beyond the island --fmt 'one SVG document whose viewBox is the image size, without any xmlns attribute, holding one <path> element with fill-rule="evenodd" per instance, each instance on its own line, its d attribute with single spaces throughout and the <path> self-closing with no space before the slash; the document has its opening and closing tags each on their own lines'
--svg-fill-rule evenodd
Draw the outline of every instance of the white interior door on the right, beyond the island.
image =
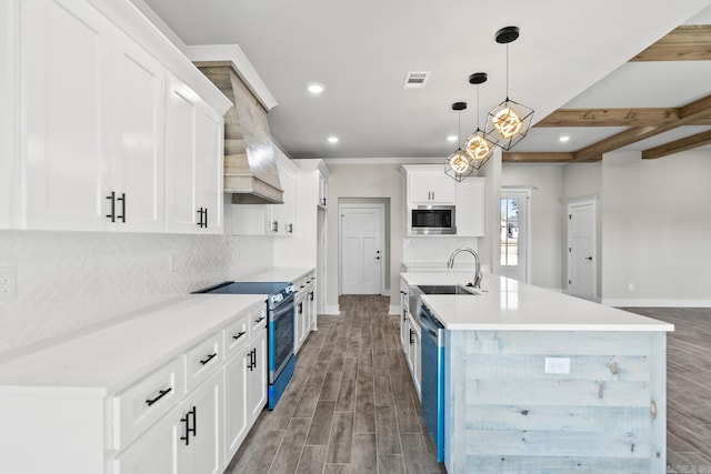
<svg viewBox="0 0 711 474">
<path fill-rule="evenodd" d="M 568 293 L 595 300 L 595 201 L 568 204 Z"/>
</svg>

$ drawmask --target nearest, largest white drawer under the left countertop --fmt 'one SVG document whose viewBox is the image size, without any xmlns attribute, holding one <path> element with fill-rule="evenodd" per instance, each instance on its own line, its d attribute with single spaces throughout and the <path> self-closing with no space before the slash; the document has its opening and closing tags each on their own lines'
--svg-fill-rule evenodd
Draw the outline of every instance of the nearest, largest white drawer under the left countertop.
<svg viewBox="0 0 711 474">
<path fill-rule="evenodd" d="M 113 396 L 113 447 L 121 450 L 168 413 L 184 394 L 184 363 L 177 359 Z"/>
</svg>

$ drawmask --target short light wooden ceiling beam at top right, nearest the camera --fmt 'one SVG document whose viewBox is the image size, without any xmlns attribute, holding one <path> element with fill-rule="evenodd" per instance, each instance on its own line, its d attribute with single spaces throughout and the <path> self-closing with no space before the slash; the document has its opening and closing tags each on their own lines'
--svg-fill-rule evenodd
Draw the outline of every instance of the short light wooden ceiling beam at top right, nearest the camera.
<svg viewBox="0 0 711 474">
<path fill-rule="evenodd" d="M 709 61 L 711 24 L 682 24 L 630 61 Z"/>
</svg>

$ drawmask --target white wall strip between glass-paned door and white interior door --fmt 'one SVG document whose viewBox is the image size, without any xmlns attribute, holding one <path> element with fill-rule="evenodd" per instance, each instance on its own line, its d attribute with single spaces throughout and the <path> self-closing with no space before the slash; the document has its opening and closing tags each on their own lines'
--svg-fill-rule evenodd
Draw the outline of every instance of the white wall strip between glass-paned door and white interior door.
<svg viewBox="0 0 711 474">
<path fill-rule="evenodd" d="M 530 188 L 531 281 L 561 289 L 564 245 L 563 167 L 560 164 L 504 163 L 501 186 Z"/>
</svg>

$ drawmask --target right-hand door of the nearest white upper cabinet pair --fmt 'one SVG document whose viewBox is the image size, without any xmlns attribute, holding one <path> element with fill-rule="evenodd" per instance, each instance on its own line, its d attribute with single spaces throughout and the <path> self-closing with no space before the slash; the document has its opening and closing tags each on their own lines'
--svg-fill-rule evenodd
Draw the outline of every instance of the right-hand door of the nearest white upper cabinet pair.
<svg viewBox="0 0 711 474">
<path fill-rule="evenodd" d="M 122 198 L 117 213 L 126 220 L 117 230 L 164 231 L 163 71 L 132 40 L 117 36 L 111 191 Z"/>
</svg>

